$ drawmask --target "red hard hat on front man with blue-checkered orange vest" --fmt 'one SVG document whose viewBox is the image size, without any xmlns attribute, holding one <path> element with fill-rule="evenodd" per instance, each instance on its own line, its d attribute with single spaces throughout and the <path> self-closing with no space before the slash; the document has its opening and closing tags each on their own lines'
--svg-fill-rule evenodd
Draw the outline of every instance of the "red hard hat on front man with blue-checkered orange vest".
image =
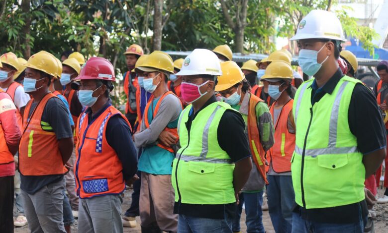
<svg viewBox="0 0 388 233">
<path fill-rule="evenodd" d="M 112 82 L 116 81 L 112 63 L 105 58 L 90 58 L 81 68 L 80 75 L 74 80 L 85 79 L 101 79 Z"/>
</svg>

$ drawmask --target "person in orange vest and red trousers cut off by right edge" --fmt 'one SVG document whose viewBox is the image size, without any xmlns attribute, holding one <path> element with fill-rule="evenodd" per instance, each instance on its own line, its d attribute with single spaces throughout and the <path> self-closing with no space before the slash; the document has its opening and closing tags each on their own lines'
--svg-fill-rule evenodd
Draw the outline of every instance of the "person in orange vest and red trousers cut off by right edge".
<svg viewBox="0 0 388 233">
<path fill-rule="evenodd" d="M 375 96 L 377 98 L 377 103 L 380 109 L 387 115 L 388 105 L 388 61 L 382 60 L 376 67 L 377 73 L 380 76 L 380 80 L 376 83 L 375 88 L 373 89 Z M 376 119 L 375 119 L 376 120 Z M 388 135 L 388 122 L 386 122 L 386 132 Z M 388 157 L 385 160 L 386 171 L 388 170 Z M 380 177 L 382 175 L 382 166 L 376 172 L 376 183 L 380 184 Z M 380 197 L 378 203 L 388 203 L 388 172 L 384 175 L 384 187 L 386 188 L 384 195 Z"/>
</svg>

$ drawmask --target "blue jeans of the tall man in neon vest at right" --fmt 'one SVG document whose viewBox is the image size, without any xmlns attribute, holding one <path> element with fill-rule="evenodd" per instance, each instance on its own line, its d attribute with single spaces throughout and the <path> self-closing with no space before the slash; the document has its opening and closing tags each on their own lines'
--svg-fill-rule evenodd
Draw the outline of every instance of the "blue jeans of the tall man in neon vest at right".
<svg viewBox="0 0 388 233">
<path fill-rule="evenodd" d="M 364 220 L 351 224 L 317 223 L 303 220 L 298 213 L 292 213 L 292 233 L 363 233 Z"/>
</svg>

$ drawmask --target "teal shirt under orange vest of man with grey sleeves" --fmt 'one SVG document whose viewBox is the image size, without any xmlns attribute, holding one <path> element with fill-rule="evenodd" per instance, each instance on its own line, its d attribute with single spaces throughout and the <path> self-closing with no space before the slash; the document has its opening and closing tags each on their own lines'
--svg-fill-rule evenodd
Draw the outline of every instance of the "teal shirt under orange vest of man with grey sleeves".
<svg viewBox="0 0 388 233">
<path fill-rule="evenodd" d="M 150 124 L 152 122 L 153 112 L 159 98 L 153 100 L 153 107 L 150 109 L 152 111 L 148 111 L 147 117 Z M 178 126 L 178 120 L 179 118 L 170 122 L 167 127 L 176 128 Z M 143 151 L 139 159 L 138 170 L 153 175 L 171 175 L 174 158 L 174 153 L 171 153 L 170 151 L 157 145 L 146 146 L 143 147 Z"/>
</svg>

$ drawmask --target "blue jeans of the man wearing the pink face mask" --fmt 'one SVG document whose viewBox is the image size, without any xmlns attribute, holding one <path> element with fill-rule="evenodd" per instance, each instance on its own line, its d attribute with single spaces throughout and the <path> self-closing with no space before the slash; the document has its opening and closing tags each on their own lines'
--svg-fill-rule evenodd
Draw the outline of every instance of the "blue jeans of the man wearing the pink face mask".
<svg viewBox="0 0 388 233">
<path fill-rule="evenodd" d="M 180 214 L 178 233 L 232 233 L 233 219 L 226 215 L 224 219 L 205 219 Z"/>
</svg>

